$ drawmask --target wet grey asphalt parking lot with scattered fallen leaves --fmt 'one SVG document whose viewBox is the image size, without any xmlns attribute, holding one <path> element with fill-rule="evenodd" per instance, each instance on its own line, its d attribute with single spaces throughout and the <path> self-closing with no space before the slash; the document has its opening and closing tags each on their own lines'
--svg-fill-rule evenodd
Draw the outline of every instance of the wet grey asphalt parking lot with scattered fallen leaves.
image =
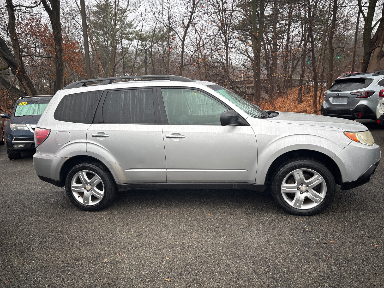
<svg viewBox="0 0 384 288">
<path fill-rule="evenodd" d="M 384 129 L 362 121 L 384 147 Z M 384 163 L 324 212 L 268 190 L 144 190 L 84 212 L 0 146 L 4 287 L 382 287 Z"/>
</svg>

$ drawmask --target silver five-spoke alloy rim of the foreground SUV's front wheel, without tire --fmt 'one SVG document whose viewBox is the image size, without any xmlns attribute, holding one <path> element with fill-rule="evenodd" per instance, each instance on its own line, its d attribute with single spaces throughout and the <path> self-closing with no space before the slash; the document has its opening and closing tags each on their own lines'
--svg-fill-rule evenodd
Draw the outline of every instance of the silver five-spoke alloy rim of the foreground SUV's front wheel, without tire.
<svg viewBox="0 0 384 288">
<path fill-rule="evenodd" d="M 297 209 L 311 209 L 319 205 L 327 193 L 323 176 L 311 169 L 296 169 L 288 173 L 281 184 L 285 202 Z"/>
</svg>

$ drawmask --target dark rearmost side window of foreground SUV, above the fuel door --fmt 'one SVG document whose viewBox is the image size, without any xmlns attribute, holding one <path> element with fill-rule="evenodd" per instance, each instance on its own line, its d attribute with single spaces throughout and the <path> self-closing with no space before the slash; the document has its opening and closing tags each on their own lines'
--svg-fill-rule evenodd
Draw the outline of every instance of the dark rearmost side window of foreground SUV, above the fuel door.
<svg viewBox="0 0 384 288">
<path fill-rule="evenodd" d="M 59 121 L 92 123 L 103 90 L 65 95 L 53 117 Z"/>
</svg>

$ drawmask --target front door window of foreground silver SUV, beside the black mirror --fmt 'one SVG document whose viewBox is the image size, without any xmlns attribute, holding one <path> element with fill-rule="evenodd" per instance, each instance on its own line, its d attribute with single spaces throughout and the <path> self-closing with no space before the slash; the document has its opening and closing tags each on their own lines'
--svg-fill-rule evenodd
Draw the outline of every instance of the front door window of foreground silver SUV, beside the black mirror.
<svg viewBox="0 0 384 288">
<path fill-rule="evenodd" d="M 164 88 L 161 94 L 169 124 L 220 124 L 220 114 L 228 110 L 197 90 Z"/>
</svg>

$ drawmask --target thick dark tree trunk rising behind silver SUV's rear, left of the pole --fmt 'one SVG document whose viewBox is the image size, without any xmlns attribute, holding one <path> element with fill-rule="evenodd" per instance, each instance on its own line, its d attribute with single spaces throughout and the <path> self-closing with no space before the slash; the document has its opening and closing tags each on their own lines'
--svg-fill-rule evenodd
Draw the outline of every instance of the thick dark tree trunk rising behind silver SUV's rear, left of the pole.
<svg viewBox="0 0 384 288">
<path fill-rule="evenodd" d="M 53 41 L 55 43 L 55 85 L 53 91 L 56 93 L 58 90 L 64 88 L 64 61 L 63 61 L 63 38 L 61 35 L 60 23 L 60 0 L 49 0 L 51 7 L 49 7 L 46 0 L 41 0 L 45 11 L 51 21 L 53 31 Z"/>
</svg>

